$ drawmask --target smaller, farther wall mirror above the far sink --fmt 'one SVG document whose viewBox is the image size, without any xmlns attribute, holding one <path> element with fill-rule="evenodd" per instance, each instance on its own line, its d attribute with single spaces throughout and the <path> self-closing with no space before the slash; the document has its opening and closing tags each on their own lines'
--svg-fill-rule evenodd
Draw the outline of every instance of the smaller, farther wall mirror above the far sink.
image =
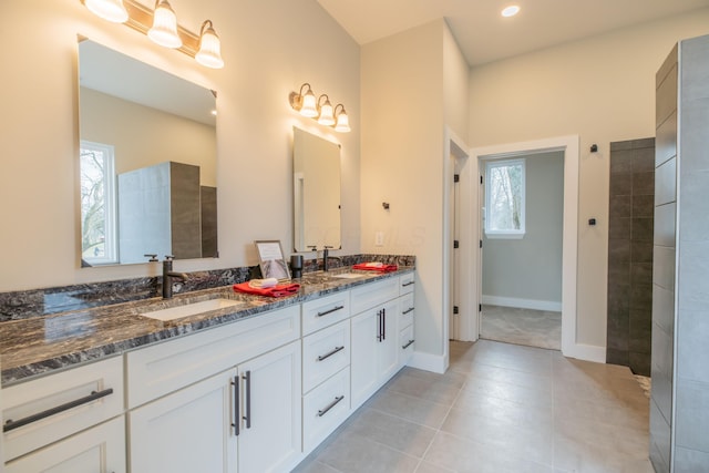
<svg viewBox="0 0 709 473">
<path fill-rule="evenodd" d="M 340 145 L 294 127 L 296 251 L 341 247 Z"/>
</svg>

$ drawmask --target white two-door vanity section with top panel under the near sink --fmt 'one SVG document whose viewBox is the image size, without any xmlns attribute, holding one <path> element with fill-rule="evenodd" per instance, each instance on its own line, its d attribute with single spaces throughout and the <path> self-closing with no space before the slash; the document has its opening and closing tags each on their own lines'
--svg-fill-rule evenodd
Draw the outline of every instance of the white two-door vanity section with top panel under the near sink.
<svg viewBox="0 0 709 473">
<path fill-rule="evenodd" d="M 301 454 L 300 307 L 126 353 L 132 473 L 288 471 Z"/>
</svg>

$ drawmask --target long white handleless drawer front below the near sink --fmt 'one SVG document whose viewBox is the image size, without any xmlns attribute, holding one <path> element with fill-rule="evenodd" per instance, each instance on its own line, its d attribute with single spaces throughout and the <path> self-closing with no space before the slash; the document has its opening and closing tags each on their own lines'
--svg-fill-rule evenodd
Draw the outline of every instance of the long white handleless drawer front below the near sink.
<svg viewBox="0 0 709 473">
<path fill-rule="evenodd" d="M 255 316 L 126 353 L 129 408 L 144 404 L 300 337 L 300 307 Z"/>
</svg>

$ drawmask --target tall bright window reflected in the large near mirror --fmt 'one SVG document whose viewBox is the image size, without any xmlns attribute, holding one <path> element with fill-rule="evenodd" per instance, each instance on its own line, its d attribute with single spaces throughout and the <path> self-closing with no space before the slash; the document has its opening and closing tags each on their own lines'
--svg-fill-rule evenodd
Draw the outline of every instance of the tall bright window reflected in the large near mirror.
<svg viewBox="0 0 709 473">
<path fill-rule="evenodd" d="M 81 142 L 81 259 L 117 263 L 113 146 Z"/>
</svg>

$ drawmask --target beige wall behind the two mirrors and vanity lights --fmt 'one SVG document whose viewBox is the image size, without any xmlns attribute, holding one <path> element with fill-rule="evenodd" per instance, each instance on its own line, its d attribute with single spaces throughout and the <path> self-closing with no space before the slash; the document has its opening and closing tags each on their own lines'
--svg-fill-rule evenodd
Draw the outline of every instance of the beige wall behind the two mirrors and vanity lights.
<svg viewBox="0 0 709 473">
<path fill-rule="evenodd" d="M 214 20 L 223 70 L 199 66 L 124 25 L 100 20 L 79 0 L 0 3 L 0 39 L 13 44 L 3 49 L 0 88 L 0 291 L 160 269 L 78 268 L 76 34 L 218 92 L 220 258 L 177 261 L 178 270 L 254 265 L 255 239 L 280 239 L 291 253 L 294 125 L 342 144 L 342 253 L 360 250 L 357 43 L 310 0 L 183 0 L 173 7 L 181 24 L 193 31 L 204 19 Z M 351 133 L 329 132 L 290 109 L 288 94 L 304 82 L 346 105 Z"/>
</svg>

